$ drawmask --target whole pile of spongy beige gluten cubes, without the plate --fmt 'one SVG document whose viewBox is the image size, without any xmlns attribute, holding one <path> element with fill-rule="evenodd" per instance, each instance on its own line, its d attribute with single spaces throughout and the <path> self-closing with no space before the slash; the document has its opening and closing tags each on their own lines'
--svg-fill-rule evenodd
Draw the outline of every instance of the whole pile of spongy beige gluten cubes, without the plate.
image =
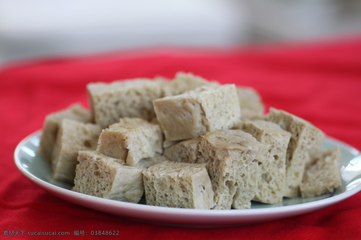
<svg viewBox="0 0 361 240">
<path fill-rule="evenodd" d="M 331 193 L 340 149 L 257 91 L 191 73 L 89 83 L 80 104 L 49 114 L 38 154 L 73 191 L 138 203 L 244 209 Z"/>
</svg>

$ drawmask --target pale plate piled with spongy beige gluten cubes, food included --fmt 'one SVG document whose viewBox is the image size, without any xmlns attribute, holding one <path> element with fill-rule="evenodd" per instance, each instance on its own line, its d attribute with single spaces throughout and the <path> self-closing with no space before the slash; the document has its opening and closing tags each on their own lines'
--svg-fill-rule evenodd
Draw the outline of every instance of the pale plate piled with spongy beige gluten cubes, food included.
<svg viewBox="0 0 361 240">
<path fill-rule="evenodd" d="M 14 160 L 64 200 L 178 225 L 287 218 L 361 190 L 360 151 L 282 110 L 264 116 L 256 93 L 238 90 L 184 73 L 90 84 L 90 112 L 49 114 Z"/>
</svg>

